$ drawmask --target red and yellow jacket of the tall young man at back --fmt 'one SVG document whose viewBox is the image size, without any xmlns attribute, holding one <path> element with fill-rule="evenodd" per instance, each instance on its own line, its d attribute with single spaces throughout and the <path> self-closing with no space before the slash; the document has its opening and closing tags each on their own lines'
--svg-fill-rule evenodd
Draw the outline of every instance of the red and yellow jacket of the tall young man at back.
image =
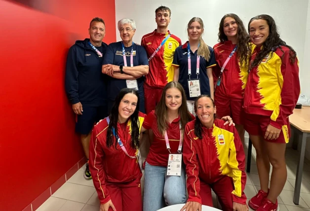
<svg viewBox="0 0 310 211">
<path fill-rule="evenodd" d="M 162 40 L 164 40 L 169 33 L 168 31 L 166 34 L 160 34 L 155 30 L 142 37 L 141 45 L 145 48 L 148 58 L 152 56 Z M 176 35 L 170 35 L 153 59 L 149 61 L 150 71 L 149 74 L 145 75 L 144 87 L 149 89 L 163 89 L 167 83 L 173 81 L 173 55 L 175 49 L 180 45 L 181 39 Z"/>
</svg>

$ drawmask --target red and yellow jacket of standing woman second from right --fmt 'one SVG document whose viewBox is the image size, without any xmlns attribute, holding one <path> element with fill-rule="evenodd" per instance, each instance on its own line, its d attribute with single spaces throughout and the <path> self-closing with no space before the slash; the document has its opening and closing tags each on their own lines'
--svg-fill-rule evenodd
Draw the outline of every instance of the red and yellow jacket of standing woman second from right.
<svg viewBox="0 0 310 211">
<path fill-rule="evenodd" d="M 217 81 L 221 73 L 226 59 L 232 53 L 236 45 L 232 41 L 219 42 L 214 45 L 214 55 L 217 66 L 213 70 L 214 86 L 216 86 L 216 95 L 223 95 L 237 99 L 243 99 L 244 89 L 248 79 L 248 69 L 246 66 L 240 66 L 237 52 L 227 63 L 222 75 L 220 86 L 217 86 Z M 252 46 L 251 46 L 252 47 Z"/>
</svg>

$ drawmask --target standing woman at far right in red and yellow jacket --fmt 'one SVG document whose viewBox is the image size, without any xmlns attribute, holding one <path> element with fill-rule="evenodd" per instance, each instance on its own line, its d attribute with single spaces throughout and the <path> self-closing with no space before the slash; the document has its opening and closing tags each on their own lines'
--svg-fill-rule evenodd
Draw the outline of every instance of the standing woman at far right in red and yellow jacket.
<svg viewBox="0 0 310 211">
<path fill-rule="evenodd" d="M 249 201 L 249 206 L 258 211 L 275 211 L 287 177 L 288 116 L 293 113 L 300 94 L 298 59 L 295 50 L 280 38 L 271 16 L 252 18 L 248 31 L 256 48 L 244 94 L 244 127 L 256 149 L 261 184 L 261 190 Z"/>
</svg>

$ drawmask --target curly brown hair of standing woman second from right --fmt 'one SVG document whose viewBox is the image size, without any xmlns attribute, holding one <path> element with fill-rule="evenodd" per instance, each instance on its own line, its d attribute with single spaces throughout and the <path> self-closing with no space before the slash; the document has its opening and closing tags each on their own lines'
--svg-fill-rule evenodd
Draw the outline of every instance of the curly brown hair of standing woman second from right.
<svg viewBox="0 0 310 211">
<path fill-rule="evenodd" d="M 250 36 L 246 32 L 246 29 L 243 25 L 242 20 L 233 13 L 226 14 L 223 16 L 220 22 L 220 27 L 219 27 L 219 42 L 224 42 L 227 41 L 228 38 L 224 33 L 224 21 L 227 17 L 233 18 L 235 22 L 238 25 L 238 30 L 237 30 L 237 55 L 239 59 L 239 63 L 241 66 L 248 67 L 249 66 L 249 56 L 251 55 L 251 48 L 249 45 L 250 42 Z"/>
</svg>

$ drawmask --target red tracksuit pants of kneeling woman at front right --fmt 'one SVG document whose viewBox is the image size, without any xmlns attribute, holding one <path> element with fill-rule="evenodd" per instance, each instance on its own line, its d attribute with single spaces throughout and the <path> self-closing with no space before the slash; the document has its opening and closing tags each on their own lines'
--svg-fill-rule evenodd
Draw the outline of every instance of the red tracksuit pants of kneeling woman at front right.
<svg viewBox="0 0 310 211">
<path fill-rule="evenodd" d="M 202 205 L 213 207 L 212 192 L 217 195 L 223 211 L 233 211 L 232 192 L 234 190 L 233 179 L 223 176 L 214 183 L 205 183 L 200 179 L 200 197 Z"/>
</svg>

